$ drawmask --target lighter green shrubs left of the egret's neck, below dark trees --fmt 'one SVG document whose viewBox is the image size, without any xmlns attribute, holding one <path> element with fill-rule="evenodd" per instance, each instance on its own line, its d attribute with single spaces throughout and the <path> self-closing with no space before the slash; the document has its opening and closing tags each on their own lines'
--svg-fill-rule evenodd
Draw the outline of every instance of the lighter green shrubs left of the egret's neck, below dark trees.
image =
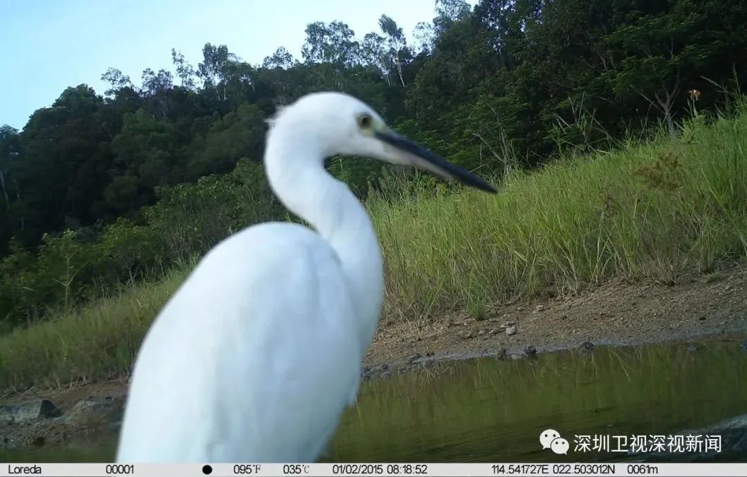
<svg viewBox="0 0 747 477">
<path fill-rule="evenodd" d="M 120 218 L 93 241 L 82 230 L 45 235 L 35 255 L 12 242 L 0 261 L 0 323 L 11 328 L 36 321 L 48 308 L 69 311 L 81 300 L 161 275 L 229 234 L 285 213 L 261 166 L 247 160 L 230 174 L 156 191 L 158 202 L 143 208 L 141 225 Z"/>
</svg>

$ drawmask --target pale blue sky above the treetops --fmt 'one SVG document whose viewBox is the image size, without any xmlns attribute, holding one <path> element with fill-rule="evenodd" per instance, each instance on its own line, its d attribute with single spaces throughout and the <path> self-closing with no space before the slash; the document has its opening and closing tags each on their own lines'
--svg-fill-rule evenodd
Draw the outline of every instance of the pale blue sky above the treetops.
<svg viewBox="0 0 747 477">
<path fill-rule="evenodd" d="M 476 0 L 469 1 L 474 4 Z M 433 19 L 435 0 L 0 0 L 0 125 L 22 128 L 68 87 L 97 93 L 109 67 L 140 84 L 143 69 L 171 68 L 176 48 L 196 66 L 205 43 L 249 63 L 279 46 L 300 59 L 310 22 L 346 22 L 362 38 L 386 13 L 406 34 Z M 177 80 L 178 81 L 178 80 Z"/>
</svg>

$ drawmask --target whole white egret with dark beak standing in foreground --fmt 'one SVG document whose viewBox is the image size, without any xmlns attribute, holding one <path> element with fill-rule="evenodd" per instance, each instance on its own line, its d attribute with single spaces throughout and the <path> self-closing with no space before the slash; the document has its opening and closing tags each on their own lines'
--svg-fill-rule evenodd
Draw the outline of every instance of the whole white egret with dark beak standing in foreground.
<svg viewBox="0 0 747 477">
<path fill-rule="evenodd" d="M 270 122 L 270 187 L 314 230 L 252 225 L 200 261 L 146 334 L 120 462 L 311 462 L 355 402 L 383 295 L 371 219 L 325 158 L 359 155 L 483 179 L 389 129 L 342 93 L 314 93 Z"/>
</svg>

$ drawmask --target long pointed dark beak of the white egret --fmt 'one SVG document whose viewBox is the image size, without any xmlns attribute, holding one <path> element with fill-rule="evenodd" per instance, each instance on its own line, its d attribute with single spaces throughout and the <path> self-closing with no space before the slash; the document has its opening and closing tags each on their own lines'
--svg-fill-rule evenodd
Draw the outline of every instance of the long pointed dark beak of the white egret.
<svg viewBox="0 0 747 477">
<path fill-rule="evenodd" d="M 474 175 L 467 169 L 448 162 L 444 158 L 441 158 L 441 156 L 433 154 L 433 152 L 430 152 L 423 146 L 413 143 L 411 140 L 393 131 L 375 131 L 373 137 L 387 143 L 396 149 L 397 152 L 403 153 L 403 157 L 401 158 L 403 163 L 430 170 L 430 172 L 434 172 L 443 178 L 459 181 L 462 184 L 476 187 L 486 192 L 496 192 L 495 188 L 483 178 Z"/>
</svg>

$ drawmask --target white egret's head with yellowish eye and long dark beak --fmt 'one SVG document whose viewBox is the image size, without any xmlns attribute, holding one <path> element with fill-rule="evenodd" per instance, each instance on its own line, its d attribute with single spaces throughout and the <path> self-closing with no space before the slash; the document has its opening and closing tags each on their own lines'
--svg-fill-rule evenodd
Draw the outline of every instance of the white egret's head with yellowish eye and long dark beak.
<svg viewBox="0 0 747 477">
<path fill-rule="evenodd" d="M 303 124 L 305 139 L 313 139 L 325 157 L 358 155 L 414 166 L 495 193 L 482 178 L 395 133 L 371 107 L 344 93 L 303 96 L 280 110 L 272 122 Z"/>
</svg>

